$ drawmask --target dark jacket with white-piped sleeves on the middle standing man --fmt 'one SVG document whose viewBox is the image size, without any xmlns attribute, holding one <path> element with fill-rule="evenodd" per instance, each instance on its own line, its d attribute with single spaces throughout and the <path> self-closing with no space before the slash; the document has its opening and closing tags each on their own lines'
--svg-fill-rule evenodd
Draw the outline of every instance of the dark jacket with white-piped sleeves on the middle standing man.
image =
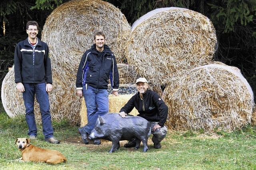
<svg viewBox="0 0 256 170">
<path fill-rule="evenodd" d="M 94 44 L 82 56 L 76 75 L 76 89 L 82 90 L 84 84 L 97 89 L 106 89 L 109 78 L 113 90 L 117 91 L 119 75 L 116 58 L 107 45 L 104 45 L 104 50 L 100 53 Z"/>
</svg>

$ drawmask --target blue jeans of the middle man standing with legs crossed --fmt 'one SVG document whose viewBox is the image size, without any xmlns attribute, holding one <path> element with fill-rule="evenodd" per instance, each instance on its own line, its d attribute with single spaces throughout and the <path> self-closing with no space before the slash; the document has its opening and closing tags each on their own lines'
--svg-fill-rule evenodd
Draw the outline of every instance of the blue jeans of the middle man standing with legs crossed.
<svg viewBox="0 0 256 170">
<path fill-rule="evenodd" d="M 108 91 L 106 89 L 97 89 L 87 84 L 83 86 L 84 100 L 87 109 L 88 123 L 83 129 L 90 134 L 95 127 L 98 116 L 108 113 Z"/>
</svg>

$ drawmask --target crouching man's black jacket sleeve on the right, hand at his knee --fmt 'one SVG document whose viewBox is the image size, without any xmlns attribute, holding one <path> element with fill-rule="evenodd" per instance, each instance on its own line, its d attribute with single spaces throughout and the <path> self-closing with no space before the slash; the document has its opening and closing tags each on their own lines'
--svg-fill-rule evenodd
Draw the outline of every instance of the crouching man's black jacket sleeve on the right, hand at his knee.
<svg viewBox="0 0 256 170">
<path fill-rule="evenodd" d="M 164 101 L 160 98 L 160 96 L 154 92 L 153 95 L 154 103 L 156 104 L 158 111 L 159 111 L 159 123 L 161 127 L 164 126 L 164 123 L 166 122 L 167 116 L 168 116 L 168 107 L 164 103 Z"/>
</svg>

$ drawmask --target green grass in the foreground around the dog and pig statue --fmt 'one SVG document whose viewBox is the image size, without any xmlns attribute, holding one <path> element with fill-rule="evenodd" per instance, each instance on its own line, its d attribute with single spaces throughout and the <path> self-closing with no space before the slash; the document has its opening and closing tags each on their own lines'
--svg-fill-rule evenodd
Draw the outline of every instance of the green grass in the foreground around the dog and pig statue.
<svg viewBox="0 0 256 170">
<path fill-rule="evenodd" d="M 44 141 L 41 126 L 32 145 L 56 149 L 68 159 L 66 163 L 50 165 L 36 162 L 15 162 L 21 152 L 14 145 L 17 137 L 26 137 L 24 116 L 10 119 L 0 113 L 0 169 L 256 169 L 256 128 L 245 127 L 232 133 L 216 131 L 217 135 L 204 135 L 204 131 L 169 131 L 161 149 L 154 149 L 149 139 L 148 152 L 125 149 L 108 153 L 111 144 L 84 145 L 78 127 L 67 121 L 53 122 L 55 136 L 62 141 L 52 145 Z M 150 137 L 151 138 L 151 137 Z M 73 143 L 68 143 L 70 139 Z M 75 141 L 80 141 L 75 142 Z"/>
</svg>

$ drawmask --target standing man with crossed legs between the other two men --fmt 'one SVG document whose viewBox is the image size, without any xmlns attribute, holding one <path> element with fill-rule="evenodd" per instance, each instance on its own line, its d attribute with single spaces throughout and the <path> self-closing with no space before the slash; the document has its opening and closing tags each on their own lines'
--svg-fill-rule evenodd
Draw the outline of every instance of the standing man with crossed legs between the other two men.
<svg viewBox="0 0 256 170">
<path fill-rule="evenodd" d="M 79 132 L 82 140 L 88 144 L 88 135 L 95 126 L 98 116 L 108 113 L 108 80 L 110 78 L 113 94 L 118 96 L 119 75 L 116 59 L 108 45 L 105 45 L 105 34 L 94 35 L 95 44 L 82 56 L 76 76 L 78 96 L 84 96 L 88 123 Z M 94 140 L 100 145 L 100 140 Z"/>
</svg>

